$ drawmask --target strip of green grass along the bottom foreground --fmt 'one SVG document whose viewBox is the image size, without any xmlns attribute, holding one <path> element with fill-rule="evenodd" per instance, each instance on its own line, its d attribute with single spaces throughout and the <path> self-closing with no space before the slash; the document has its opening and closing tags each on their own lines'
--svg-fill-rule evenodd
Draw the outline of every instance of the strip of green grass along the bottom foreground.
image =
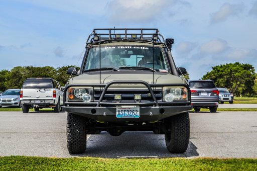
<svg viewBox="0 0 257 171">
<path fill-rule="evenodd" d="M 0 170 L 257 170 L 250 158 L 0 157 Z"/>
</svg>

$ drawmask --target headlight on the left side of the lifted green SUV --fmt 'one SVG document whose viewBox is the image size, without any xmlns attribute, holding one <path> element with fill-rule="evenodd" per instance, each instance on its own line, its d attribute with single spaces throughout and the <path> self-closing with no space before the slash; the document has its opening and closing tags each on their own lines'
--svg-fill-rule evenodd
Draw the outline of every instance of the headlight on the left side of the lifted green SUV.
<svg viewBox="0 0 257 171">
<path fill-rule="evenodd" d="M 66 95 L 67 101 L 69 102 L 91 102 L 93 97 L 93 88 L 72 87 L 68 89 Z"/>
</svg>

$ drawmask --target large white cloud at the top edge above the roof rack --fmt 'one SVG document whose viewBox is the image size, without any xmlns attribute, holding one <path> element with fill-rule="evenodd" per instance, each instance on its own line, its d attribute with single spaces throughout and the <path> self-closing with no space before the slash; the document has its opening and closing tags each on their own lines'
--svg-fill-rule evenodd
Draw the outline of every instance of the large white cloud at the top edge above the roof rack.
<svg viewBox="0 0 257 171">
<path fill-rule="evenodd" d="M 114 22 L 149 22 L 162 18 L 163 14 L 173 15 L 176 4 L 189 7 L 190 4 L 179 0 L 115 0 L 107 4 L 107 16 Z"/>
</svg>

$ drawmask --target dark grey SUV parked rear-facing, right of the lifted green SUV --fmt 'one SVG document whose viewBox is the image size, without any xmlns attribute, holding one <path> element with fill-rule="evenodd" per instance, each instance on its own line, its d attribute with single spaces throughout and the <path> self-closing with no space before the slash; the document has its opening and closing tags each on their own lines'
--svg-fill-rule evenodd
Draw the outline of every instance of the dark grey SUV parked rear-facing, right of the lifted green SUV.
<svg viewBox="0 0 257 171">
<path fill-rule="evenodd" d="M 219 91 L 212 80 L 188 80 L 191 90 L 192 106 L 195 112 L 208 108 L 215 113 L 218 108 Z"/>
</svg>

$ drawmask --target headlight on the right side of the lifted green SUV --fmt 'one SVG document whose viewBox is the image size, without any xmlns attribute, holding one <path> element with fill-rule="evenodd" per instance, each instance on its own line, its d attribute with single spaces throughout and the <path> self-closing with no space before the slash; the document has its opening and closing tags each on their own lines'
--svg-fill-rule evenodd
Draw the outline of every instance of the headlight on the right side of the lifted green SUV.
<svg viewBox="0 0 257 171">
<path fill-rule="evenodd" d="M 187 101 L 188 91 L 185 87 L 164 87 L 163 88 L 163 101 Z"/>
</svg>

